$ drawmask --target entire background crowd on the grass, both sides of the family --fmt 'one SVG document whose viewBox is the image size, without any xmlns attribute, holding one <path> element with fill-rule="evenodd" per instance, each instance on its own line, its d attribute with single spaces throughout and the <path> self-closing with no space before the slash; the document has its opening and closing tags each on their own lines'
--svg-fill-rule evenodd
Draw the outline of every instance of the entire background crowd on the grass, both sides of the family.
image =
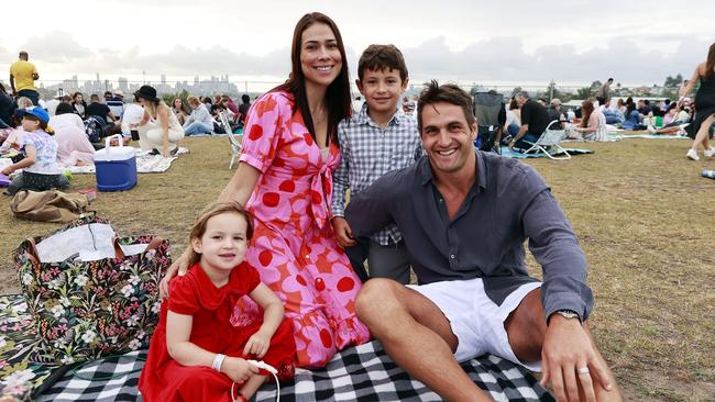
<svg viewBox="0 0 715 402">
<path fill-rule="evenodd" d="M 564 130 L 566 138 L 571 139 L 609 141 L 607 132 L 616 129 L 648 131 L 657 135 L 689 135 L 695 139 L 702 125 L 698 123 L 707 121 L 693 121 L 696 102 L 688 94 L 698 81 L 706 87 L 706 92 L 712 77 L 707 75 L 708 66 L 705 64 L 712 64 L 711 58 L 708 56 L 703 66 L 698 65 L 693 78 L 683 81 L 679 89 L 682 96 L 672 101 L 651 102 L 649 99 L 634 100 L 632 97 L 613 99 L 613 77 L 598 88 L 594 97 L 583 100 L 580 107 L 565 107 L 558 98 L 547 101 L 544 98 L 530 99 L 526 91 L 516 93 L 505 104 L 506 124 L 502 145 L 528 148 L 529 143 L 536 141 L 553 121 L 558 121 L 558 124 L 549 127 Z M 22 119 L 18 111 L 32 105 L 44 108 L 52 116 L 50 125 L 57 133 L 54 139 L 62 143 L 57 157 L 65 165 L 91 164 L 91 150 L 102 146 L 103 137 L 119 133 L 124 135 L 125 142 L 130 138 L 139 141 L 144 150 L 170 156 L 176 153 L 176 143 L 185 135 L 223 134 L 241 130 L 251 107 L 249 94 L 243 94 L 238 102 L 223 93 L 177 97 L 168 105 L 148 86 L 135 92 L 133 102 L 127 104 L 121 90 L 105 91 L 101 97 L 99 93 L 87 97 L 74 92 L 45 101 L 34 86 L 38 78 L 37 68 L 30 63 L 29 54 L 21 52 L 10 68 L 10 88 L 0 83 L 0 152 L 21 149 Z M 698 103 L 703 103 L 706 97 L 701 98 Z M 362 96 L 355 97 L 352 101 L 353 113 L 359 113 L 363 104 Z M 405 96 L 400 99 L 400 108 L 407 118 L 416 119 L 417 107 L 416 98 Z M 710 108 L 707 103 L 703 107 Z M 156 114 L 156 111 L 162 113 Z M 222 124 L 221 115 L 227 118 L 228 127 Z M 710 127 L 712 122 L 705 125 Z M 713 156 L 710 135 L 700 135 L 688 153 L 689 158 L 698 159 L 695 148 L 700 145 L 704 146 L 706 157 Z"/>
</svg>

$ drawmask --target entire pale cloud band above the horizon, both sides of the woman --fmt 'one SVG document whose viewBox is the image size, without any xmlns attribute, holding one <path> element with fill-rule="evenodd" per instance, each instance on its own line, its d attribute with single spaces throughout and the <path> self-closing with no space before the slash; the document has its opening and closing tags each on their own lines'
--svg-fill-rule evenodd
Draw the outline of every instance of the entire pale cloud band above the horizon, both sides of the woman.
<svg viewBox="0 0 715 402">
<path fill-rule="evenodd" d="M 664 40 L 664 37 L 658 37 Z M 644 45 L 639 38 L 614 36 L 598 46 L 580 48 L 574 44 L 554 43 L 527 51 L 525 40 L 517 36 L 495 36 L 451 49 L 444 36 L 437 36 L 414 47 L 403 47 L 413 83 L 437 78 L 444 80 L 486 83 L 591 82 L 614 77 L 624 85 L 662 83 L 667 76 L 690 76 L 698 62 L 705 58 L 708 42 L 686 37 L 668 37 L 668 52 Z M 111 48 L 89 49 L 72 35 L 55 32 L 31 37 L 24 47 L 31 58 L 38 60 L 42 71 L 56 70 L 70 75 L 102 76 L 166 74 L 193 77 L 199 75 L 229 75 L 242 77 L 274 77 L 282 81 L 290 70 L 290 49 L 285 46 L 264 55 L 235 52 L 224 45 L 189 47 L 174 45 L 158 53 L 142 52 L 138 46 L 117 52 Z M 3 52 L 0 48 L 0 54 Z M 362 49 L 360 49 L 362 52 Z M 348 47 L 351 76 L 356 77 L 360 52 Z"/>
</svg>

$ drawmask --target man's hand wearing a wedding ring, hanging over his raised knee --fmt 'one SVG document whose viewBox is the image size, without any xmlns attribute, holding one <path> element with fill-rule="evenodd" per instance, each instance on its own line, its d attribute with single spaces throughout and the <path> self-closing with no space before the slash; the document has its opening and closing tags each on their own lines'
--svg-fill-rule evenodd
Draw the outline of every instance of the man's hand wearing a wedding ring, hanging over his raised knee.
<svg viewBox="0 0 715 402">
<path fill-rule="evenodd" d="M 541 349 L 541 386 L 551 382 L 559 401 L 579 401 L 579 389 L 586 401 L 595 402 L 594 386 L 610 391 L 613 384 L 595 346 L 578 319 L 552 314 Z"/>
</svg>

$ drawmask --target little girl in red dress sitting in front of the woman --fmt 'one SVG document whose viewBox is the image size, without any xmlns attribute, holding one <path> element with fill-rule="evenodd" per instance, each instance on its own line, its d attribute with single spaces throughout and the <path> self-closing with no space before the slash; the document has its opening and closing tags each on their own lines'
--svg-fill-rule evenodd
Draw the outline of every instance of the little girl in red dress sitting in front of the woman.
<svg viewBox="0 0 715 402">
<path fill-rule="evenodd" d="M 245 401 L 268 375 L 246 359 L 275 367 L 280 379 L 294 376 L 296 345 L 283 303 L 244 263 L 252 234 L 237 202 L 209 206 L 191 227 L 191 267 L 169 284 L 139 380 L 144 401 Z M 263 321 L 241 314 L 245 294 Z"/>
</svg>

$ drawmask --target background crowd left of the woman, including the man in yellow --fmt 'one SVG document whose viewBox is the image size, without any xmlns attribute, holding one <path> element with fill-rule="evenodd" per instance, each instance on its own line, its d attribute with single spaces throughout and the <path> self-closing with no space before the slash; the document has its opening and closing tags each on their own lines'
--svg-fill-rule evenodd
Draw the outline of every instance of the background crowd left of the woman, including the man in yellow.
<svg viewBox="0 0 715 402">
<path fill-rule="evenodd" d="M 54 129 L 52 139 L 58 145 L 57 160 L 64 166 L 92 164 L 94 152 L 103 147 L 105 137 L 114 134 L 122 134 L 125 144 L 138 141 L 140 148 L 150 154 L 173 156 L 176 143 L 185 135 L 241 129 L 251 107 L 249 94 L 243 94 L 237 104 L 222 93 L 202 99 L 175 98 L 168 107 L 151 86 L 140 88 L 127 103 L 121 90 L 89 96 L 77 91 L 43 100 L 34 83 L 40 78 L 37 68 L 29 58 L 26 52 L 21 52 L 10 68 L 11 87 L 0 83 L 0 153 L 3 155 L 25 155 L 22 119 L 28 115 L 25 109 L 32 107 L 47 112 L 46 123 Z M 221 113 L 228 116 L 230 127 L 221 124 Z"/>
</svg>

